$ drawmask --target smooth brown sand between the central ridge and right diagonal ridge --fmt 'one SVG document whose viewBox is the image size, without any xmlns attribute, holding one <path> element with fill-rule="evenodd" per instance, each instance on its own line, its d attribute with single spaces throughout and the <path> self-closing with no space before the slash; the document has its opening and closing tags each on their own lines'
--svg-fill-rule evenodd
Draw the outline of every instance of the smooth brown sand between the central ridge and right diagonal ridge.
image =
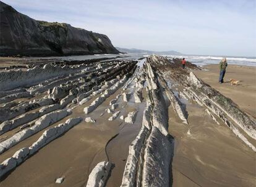
<svg viewBox="0 0 256 187">
<path fill-rule="evenodd" d="M 255 186 L 254 151 L 197 104 L 188 104 L 187 111 L 189 125 L 182 124 L 169 107 L 169 133 L 175 139 L 173 187 Z"/>
</svg>

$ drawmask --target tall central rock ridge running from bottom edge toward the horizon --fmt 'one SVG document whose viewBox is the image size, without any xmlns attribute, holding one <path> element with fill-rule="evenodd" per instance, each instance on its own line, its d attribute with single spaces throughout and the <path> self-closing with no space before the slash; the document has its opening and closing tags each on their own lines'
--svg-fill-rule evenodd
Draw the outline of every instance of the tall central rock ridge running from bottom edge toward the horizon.
<svg viewBox="0 0 256 187">
<path fill-rule="evenodd" d="M 170 186 L 169 169 L 173 138 L 168 133 L 168 114 L 158 89 L 158 81 L 146 62 L 148 100 L 142 128 L 129 146 L 121 186 Z"/>
</svg>

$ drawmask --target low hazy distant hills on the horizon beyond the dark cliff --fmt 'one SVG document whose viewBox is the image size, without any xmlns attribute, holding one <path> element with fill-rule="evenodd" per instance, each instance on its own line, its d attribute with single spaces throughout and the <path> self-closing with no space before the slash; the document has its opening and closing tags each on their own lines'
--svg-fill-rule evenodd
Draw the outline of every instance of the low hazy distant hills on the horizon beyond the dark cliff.
<svg viewBox="0 0 256 187">
<path fill-rule="evenodd" d="M 180 52 L 175 50 L 168 50 L 168 51 L 153 51 L 153 50 L 143 50 L 143 49 L 126 49 L 121 47 L 116 47 L 117 50 L 127 54 L 143 54 L 143 55 L 182 55 Z"/>
</svg>

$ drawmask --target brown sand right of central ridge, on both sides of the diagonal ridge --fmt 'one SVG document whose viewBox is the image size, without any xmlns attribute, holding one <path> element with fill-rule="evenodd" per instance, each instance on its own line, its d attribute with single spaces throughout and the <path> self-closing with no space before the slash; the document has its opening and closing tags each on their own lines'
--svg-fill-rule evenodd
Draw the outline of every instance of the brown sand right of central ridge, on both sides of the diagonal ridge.
<svg viewBox="0 0 256 187">
<path fill-rule="evenodd" d="M 218 84 L 218 65 L 203 66 L 203 69 L 194 71 L 198 78 L 255 117 L 256 68 L 229 65 L 224 84 Z M 230 78 L 241 80 L 240 85 L 231 86 Z M 182 124 L 169 107 L 169 133 L 175 141 L 171 165 L 173 187 L 255 186 L 255 152 L 223 122 L 216 124 L 201 106 L 188 102 L 186 109 L 189 125 Z M 187 134 L 189 129 L 191 135 Z"/>
</svg>

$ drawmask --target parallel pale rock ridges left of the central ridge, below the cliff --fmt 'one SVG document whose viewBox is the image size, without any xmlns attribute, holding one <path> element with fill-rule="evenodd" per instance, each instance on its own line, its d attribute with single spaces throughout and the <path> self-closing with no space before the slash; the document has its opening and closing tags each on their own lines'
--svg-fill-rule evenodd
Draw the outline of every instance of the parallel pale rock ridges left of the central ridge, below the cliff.
<svg viewBox="0 0 256 187">
<path fill-rule="evenodd" d="M 124 86 L 127 79 L 137 70 L 137 62 L 133 60 L 105 62 L 89 60 L 87 64 L 83 62 L 85 61 L 51 62 L 33 68 L 29 66 L 28 71 L 25 68 L 17 71 L 1 71 L 5 72 L 6 77 L 1 82 L 3 87 L 0 87 L 0 104 L 3 106 L 0 108 L 0 154 L 12 151 L 8 149 L 29 141 L 25 140 L 29 137 L 33 139 L 32 136 L 42 133 L 41 130 L 48 130 L 45 130 L 37 141 L 34 140 L 30 147 L 20 149 L 17 145 L 12 148 L 16 152 L 0 164 L 0 178 L 11 174 L 11 170 L 78 124 L 82 118 L 72 118 L 55 127 L 51 125 L 97 95 L 98 98 L 93 103 L 100 105 Z M 32 79 L 36 73 L 39 75 Z M 40 77 L 42 73 L 43 76 Z M 12 79 L 17 84 L 15 81 L 12 82 Z M 15 89 L 15 87 L 25 88 Z M 116 101 L 120 96 L 121 94 L 117 95 L 111 101 L 111 108 L 118 107 Z M 17 98 L 20 98 L 20 101 L 16 101 Z M 98 105 L 95 105 L 95 108 Z M 119 113 L 120 111 L 116 111 L 109 120 L 116 119 Z M 85 119 L 85 121 L 95 122 L 93 119 Z"/>
</svg>

